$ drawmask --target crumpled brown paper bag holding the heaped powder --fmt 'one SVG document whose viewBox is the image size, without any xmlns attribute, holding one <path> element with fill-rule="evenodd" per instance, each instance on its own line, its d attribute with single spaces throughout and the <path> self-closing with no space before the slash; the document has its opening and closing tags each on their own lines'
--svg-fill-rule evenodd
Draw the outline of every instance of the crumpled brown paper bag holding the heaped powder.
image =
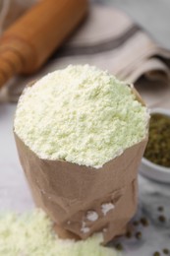
<svg viewBox="0 0 170 256">
<path fill-rule="evenodd" d="M 85 239 L 102 231 L 107 243 L 125 233 L 137 209 L 138 167 L 147 135 L 99 169 L 64 160 L 41 160 L 17 134 L 15 139 L 35 204 L 54 221 L 61 237 L 74 234 Z"/>
</svg>

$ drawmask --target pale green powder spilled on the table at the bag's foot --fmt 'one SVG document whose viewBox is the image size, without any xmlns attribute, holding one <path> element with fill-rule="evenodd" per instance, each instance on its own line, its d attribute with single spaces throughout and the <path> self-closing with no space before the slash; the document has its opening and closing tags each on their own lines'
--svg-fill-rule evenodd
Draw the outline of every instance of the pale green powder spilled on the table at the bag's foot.
<svg viewBox="0 0 170 256">
<path fill-rule="evenodd" d="M 0 256 L 116 256 L 100 245 L 102 234 L 85 241 L 62 240 L 40 210 L 29 214 L 0 215 Z M 120 254 L 119 254 L 120 255 Z"/>
</svg>

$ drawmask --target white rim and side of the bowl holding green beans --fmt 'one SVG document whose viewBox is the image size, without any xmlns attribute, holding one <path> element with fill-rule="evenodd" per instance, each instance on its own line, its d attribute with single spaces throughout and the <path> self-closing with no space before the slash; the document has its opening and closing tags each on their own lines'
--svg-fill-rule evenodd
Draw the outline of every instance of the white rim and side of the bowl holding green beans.
<svg viewBox="0 0 170 256">
<path fill-rule="evenodd" d="M 160 113 L 170 117 L 170 110 L 165 108 L 154 108 L 150 113 Z M 142 158 L 140 173 L 156 181 L 170 183 L 170 168 L 160 166 L 145 158 Z"/>
</svg>

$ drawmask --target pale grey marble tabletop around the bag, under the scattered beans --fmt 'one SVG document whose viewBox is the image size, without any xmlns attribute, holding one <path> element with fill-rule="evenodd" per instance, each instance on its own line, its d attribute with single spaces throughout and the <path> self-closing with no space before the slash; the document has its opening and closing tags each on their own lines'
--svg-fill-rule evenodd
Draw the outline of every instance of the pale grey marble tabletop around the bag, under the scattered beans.
<svg viewBox="0 0 170 256">
<path fill-rule="evenodd" d="M 0 211 L 20 213 L 34 206 L 13 137 L 15 109 L 15 104 L 0 104 Z M 145 216 L 149 225 L 135 226 L 134 233 L 142 231 L 140 240 L 135 236 L 130 239 L 120 238 L 124 246 L 123 254 L 127 256 L 149 256 L 154 251 L 170 249 L 170 184 L 156 183 L 139 176 L 139 185 L 140 203 L 136 219 Z M 162 213 L 166 217 L 164 224 L 158 221 L 161 214 L 157 211 L 158 206 L 165 209 Z"/>
</svg>

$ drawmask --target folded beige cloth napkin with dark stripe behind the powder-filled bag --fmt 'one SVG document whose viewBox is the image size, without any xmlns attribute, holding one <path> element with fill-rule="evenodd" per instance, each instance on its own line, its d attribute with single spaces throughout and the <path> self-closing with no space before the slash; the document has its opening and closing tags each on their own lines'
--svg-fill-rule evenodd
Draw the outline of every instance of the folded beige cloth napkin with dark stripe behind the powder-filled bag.
<svg viewBox="0 0 170 256">
<path fill-rule="evenodd" d="M 8 24 L 11 22 L 8 13 L 10 13 L 10 3 L 13 1 L 17 9 L 21 8 L 20 12 L 16 12 L 15 17 L 28 7 L 20 0 L 4 0 L 5 11 L 3 6 L 0 7 L 0 19 L 3 19 L 4 26 L 6 22 Z M 31 5 L 33 0 L 26 2 Z M 136 83 L 141 77 L 156 83 L 158 81 L 167 85 L 169 83 L 170 51 L 154 43 L 142 28 L 121 11 L 93 4 L 85 22 L 49 61 L 36 74 L 28 77 L 19 76 L 10 81 L 1 92 L 1 99 L 17 101 L 29 81 L 71 63 L 88 63 L 107 69 L 128 83 Z"/>
</svg>

